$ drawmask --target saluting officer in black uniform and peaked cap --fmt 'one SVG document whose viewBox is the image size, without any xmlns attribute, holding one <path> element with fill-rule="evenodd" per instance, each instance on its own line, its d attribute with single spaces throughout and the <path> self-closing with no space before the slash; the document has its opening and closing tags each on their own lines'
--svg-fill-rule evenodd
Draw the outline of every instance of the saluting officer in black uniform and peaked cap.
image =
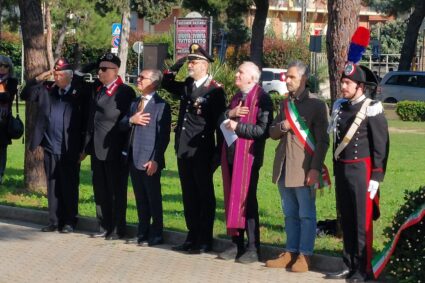
<svg viewBox="0 0 425 283">
<path fill-rule="evenodd" d="M 186 241 L 174 250 L 199 253 L 212 248 L 216 205 L 213 173 L 221 145 L 218 141 L 216 147 L 215 132 L 219 116 L 226 109 L 226 95 L 208 75 L 213 59 L 202 47 L 192 44 L 187 59 L 189 77 L 183 82 L 175 80 L 186 60 L 183 58 L 165 72 L 163 86 L 180 99 L 175 149 L 189 230 Z"/>
</svg>

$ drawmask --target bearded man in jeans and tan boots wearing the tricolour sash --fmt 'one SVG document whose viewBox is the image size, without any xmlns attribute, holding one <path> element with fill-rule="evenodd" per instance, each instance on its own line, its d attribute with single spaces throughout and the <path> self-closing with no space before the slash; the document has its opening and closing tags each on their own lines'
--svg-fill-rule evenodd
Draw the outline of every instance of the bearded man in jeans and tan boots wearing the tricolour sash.
<svg viewBox="0 0 425 283">
<path fill-rule="evenodd" d="M 289 64 L 284 99 L 270 126 L 270 137 L 280 140 L 273 166 L 285 215 L 285 252 L 268 260 L 266 267 L 309 270 L 316 236 L 315 190 L 330 185 L 323 162 L 329 147 L 328 108 L 306 87 L 308 67 L 301 61 Z"/>
</svg>

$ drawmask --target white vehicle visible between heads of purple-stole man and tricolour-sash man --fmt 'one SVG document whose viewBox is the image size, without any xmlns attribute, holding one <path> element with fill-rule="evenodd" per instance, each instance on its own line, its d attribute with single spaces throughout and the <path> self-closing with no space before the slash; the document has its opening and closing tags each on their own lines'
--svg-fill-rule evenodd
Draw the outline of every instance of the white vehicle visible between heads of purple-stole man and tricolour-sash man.
<svg viewBox="0 0 425 283">
<path fill-rule="evenodd" d="M 261 72 L 261 85 L 267 93 L 284 95 L 286 88 L 286 69 L 263 68 Z"/>
</svg>

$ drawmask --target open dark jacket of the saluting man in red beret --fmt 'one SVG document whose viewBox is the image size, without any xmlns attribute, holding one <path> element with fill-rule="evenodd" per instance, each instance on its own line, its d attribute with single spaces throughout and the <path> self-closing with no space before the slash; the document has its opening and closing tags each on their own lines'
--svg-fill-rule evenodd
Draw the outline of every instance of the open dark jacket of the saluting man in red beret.
<svg viewBox="0 0 425 283">
<path fill-rule="evenodd" d="M 47 130 L 53 102 L 60 99 L 59 88 L 52 82 L 37 83 L 30 80 L 22 90 L 21 98 L 38 103 L 35 128 L 29 142 L 29 149 L 34 150 L 41 144 Z M 90 101 L 89 89 L 85 87 L 81 77 L 74 76 L 71 88 L 62 99 L 69 103 L 64 112 L 63 154 L 75 159 L 83 152 Z"/>
</svg>

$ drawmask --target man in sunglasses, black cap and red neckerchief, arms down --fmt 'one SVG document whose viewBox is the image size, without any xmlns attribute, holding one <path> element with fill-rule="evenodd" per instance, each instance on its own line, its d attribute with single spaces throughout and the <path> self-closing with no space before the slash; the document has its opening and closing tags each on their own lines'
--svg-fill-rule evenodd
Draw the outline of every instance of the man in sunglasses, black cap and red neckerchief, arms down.
<svg viewBox="0 0 425 283">
<path fill-rule="evenodd" d="M 99 62 L 99 83 L 93 96 L 86 138 L 96 215 L 101 227 L 100 233 L 93 237 L 114 240 L 126 234 L 128 182 L 128 167 L 121 163 L 126 136 L 118 124 L 136 95 L 118 76 L 121 61 L 117 56 L 106 53 Z"/>
</svg>

